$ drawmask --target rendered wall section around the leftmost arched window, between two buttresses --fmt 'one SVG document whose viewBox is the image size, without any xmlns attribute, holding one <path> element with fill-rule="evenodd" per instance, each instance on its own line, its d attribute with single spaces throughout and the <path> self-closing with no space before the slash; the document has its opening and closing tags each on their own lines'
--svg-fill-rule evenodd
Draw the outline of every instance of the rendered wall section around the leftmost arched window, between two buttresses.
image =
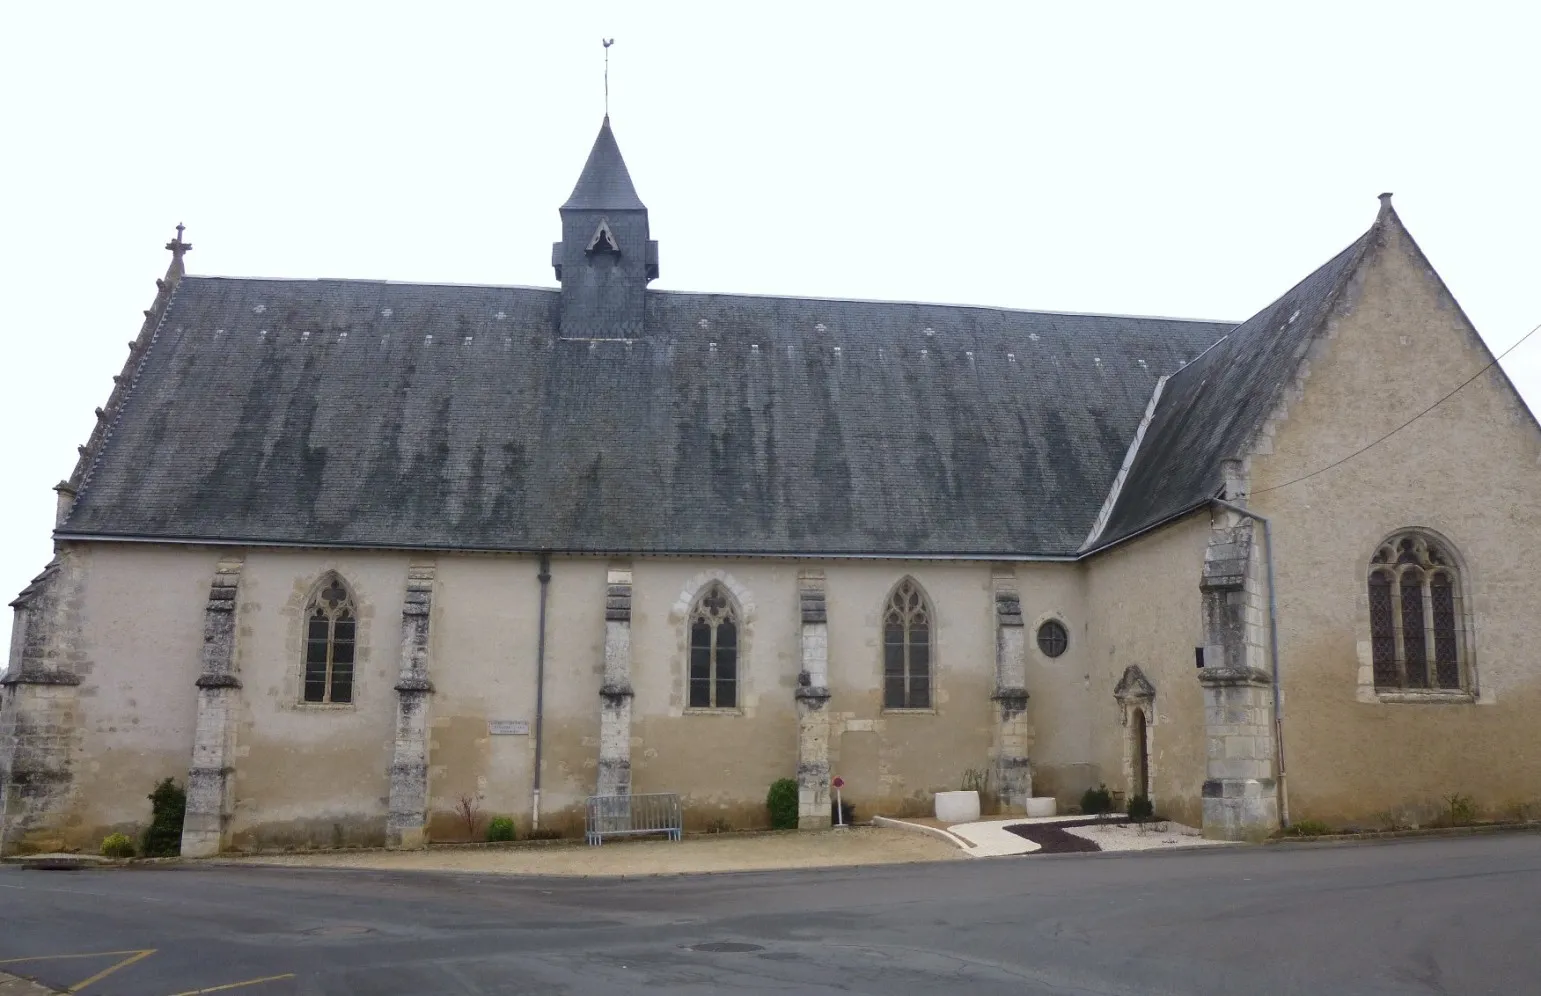
<svg viewBox="0 0 1541 996">
<path fill-rule="evenodd" d="M 407 563 L 405 555 L 371 552 L 247 554 L 236 615 L 243 688 L 234 731 L 234 848 L 385 842 Z M 327 572 L 344 578 L 358 609 L 348 705 L 302 702 L 305 606 Z M 186 678 L 188 702 L 196 677 Z"/>
</svg>

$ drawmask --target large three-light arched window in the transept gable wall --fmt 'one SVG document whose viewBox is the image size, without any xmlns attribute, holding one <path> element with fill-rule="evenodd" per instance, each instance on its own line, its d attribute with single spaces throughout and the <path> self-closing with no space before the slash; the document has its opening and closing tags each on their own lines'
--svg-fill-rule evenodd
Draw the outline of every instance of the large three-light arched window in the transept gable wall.
<svg viewBox="0 0 1541 996">
<path fill-rule="evenodd" d="M 1378 691 L 1464 691 L 1470 649 L 1452 550 L 1399 532 L 1370 560 L 1370 658 Z"/>
</svg>

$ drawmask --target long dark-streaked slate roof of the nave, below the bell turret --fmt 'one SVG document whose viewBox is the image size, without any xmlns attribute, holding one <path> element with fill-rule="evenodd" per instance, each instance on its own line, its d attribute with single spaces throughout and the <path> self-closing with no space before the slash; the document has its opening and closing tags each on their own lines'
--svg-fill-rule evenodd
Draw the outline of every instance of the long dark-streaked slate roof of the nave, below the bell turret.
<svg viewBox="0 0 1541 996">
<path fill-rule="evenodd" d="M 573 341 L 558 290 L 183 278 L 59 535 L 1071 557 L 1157 376 L 1231 328 L 670 291 L 646 307 L 641 338 Z M 1171 396 L 1197 404 L 1180 378 Z M 1167 422 L 1160 449 L 1183 452 Z"/>
</svg>

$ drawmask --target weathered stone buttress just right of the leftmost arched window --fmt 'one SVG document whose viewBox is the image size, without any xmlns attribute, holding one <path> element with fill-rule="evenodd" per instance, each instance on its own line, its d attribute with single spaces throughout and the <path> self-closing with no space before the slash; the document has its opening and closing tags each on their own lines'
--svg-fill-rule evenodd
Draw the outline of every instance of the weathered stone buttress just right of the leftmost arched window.
<svg viewBox="0 0 1541 996">
<path fill-rule="evenodd" d="M 428 620 L 433 612 L 435 563 L 407 566 L 401 604 L 401 674 L 396 678 L 396 746 L 390 763 L 390 814 L 385 846 L 428 843 Z"/>
</svg>

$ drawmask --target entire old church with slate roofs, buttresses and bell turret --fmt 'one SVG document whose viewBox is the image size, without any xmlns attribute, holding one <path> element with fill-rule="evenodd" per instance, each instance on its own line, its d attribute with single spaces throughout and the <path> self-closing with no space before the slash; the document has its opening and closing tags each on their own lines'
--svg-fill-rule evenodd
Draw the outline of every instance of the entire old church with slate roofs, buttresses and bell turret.
<svg viewBox="0 0 1541 996">
<path fill-rule="evenodd" d="M 1541 800 L 1541 432 L 1390 194 L 1239 325 L 653 290 L 609 119 L 559 213 L 553 288 L 179 227 L 12 603 L 0 851 L 165 777 L 185 854 L 783 777 L 804 828 L 837 776 L 1217 839 Z"/>
</svg>

